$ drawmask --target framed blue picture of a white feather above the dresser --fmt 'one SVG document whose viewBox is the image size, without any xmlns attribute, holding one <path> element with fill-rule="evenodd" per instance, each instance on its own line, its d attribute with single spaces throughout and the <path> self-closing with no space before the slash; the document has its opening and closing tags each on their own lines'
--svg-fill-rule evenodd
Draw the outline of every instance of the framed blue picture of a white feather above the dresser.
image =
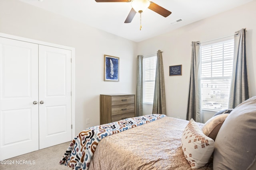
<svg viewBox="0 0 256 170">
<path fill-rule="evenodd" d="M 104 55 L 104 81 L 119 82 L 119 57 Z"/>
</svg>

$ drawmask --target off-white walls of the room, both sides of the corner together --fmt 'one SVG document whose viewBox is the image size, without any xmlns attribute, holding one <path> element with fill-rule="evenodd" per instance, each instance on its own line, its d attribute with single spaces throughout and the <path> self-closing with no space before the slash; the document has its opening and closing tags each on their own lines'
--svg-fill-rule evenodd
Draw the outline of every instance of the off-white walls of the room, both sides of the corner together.
<svg viewBox="0 0 256 170">
<path fill-rule="evenodd" d="M 76 133 L 100 123 L 100 94 L 136 92 L 138 54 L 164 51 L 167 115 L 186 119 L 191 41 L 207 41 L 246 27 L 251 96 L 256 96 L 256 1 L 169 33 L 135 43 L 99 29 L 30 6 L 0 0 L 0 32 L 76 49 Z M 120 82 L 103 81 L 103 55 L 120 57 Z M 182 76 L 169 76 L 169 66 L 182 64 Z M 144 109 L 146 110 L 146 109 Z M 152 110 L 152 109 L 148 109 Z M 150 113 L 150 112 L 149 112 Z M 86 119 L 90 124 L 86 125 Z"/>
</svg>

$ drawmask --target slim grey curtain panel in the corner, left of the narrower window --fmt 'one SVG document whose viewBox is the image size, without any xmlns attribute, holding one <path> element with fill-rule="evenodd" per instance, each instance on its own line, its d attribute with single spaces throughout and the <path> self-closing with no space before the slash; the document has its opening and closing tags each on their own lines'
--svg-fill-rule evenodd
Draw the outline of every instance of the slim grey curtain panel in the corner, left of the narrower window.
<svg viewBox="0 0 256 170">
<path fill-rule="evenodd" d="M 137 91 L 136 91 L 136 116 L 142 116 L 142 104 L 143 104 L 143 56 L 138 55 L 137 66 Z"/>
</svg>

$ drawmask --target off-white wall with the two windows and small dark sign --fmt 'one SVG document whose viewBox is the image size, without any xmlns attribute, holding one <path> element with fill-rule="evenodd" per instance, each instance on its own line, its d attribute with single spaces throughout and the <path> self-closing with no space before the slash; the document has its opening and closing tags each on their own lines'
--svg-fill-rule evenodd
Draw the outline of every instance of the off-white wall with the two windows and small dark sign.
<svg viewBox="0 0 256 170">
<path fill-rule="evenodd" d="M 138 54 L 164 51 L 164 80 L 167 115 L 186 119 L 190 81 L 191 42 L 208 41 L 247 29 L 247 62 L 251 96 L 256 96 L 256 1 L 228 12 L 197 21 L 169 33 L 138 43 Z M 169 66 L 182 64 L 182 76 L 169 76 Z M 146 107 L 146 106 L 144 106 Z M 144 113 L 147 114 L 147 113 Z"/>
</svg>

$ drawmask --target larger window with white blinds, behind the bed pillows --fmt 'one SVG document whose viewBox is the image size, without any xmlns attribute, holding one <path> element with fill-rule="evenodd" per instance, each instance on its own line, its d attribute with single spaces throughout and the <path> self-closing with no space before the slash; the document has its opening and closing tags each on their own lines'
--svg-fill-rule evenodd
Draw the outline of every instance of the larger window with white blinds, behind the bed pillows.
<svg viewBox="0 0 256 170">
<path fill-rule="evenodd" d="M 202 45 L 202 109 L 228 108 L 234 59 L 234 39 Z"/>
</svg>

